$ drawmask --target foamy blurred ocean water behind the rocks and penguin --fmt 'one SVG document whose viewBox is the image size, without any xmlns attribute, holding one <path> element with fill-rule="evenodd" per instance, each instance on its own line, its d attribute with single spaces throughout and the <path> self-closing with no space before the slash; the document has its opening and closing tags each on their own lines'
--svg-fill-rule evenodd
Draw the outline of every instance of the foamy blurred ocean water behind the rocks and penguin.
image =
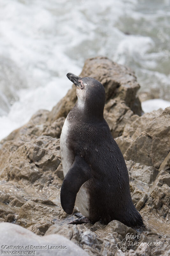
<svg viewBox="0 0 170 256">
<path fill-rule="evenodd" d="M 0 139 L 51 110 L 71 87 L 66 74 L 97 55 L 169 101 L 169 24 L 170 0 L 0 0 Z"/>
</svg>

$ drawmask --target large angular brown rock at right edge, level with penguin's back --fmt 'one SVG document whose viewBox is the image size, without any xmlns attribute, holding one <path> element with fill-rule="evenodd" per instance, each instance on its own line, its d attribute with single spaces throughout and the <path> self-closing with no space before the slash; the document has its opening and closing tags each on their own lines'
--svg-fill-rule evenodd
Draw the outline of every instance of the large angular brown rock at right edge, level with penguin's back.
<svg viewBox="0 0 170 256">
<path fill-rule="evenodd" d="M 124 127 L 116 139 L 126 160 L 159 168 L 170 168 L 170 107 L 146 113 Z M 166 145 L 166 147 L 165 147 Z"/>
</svg>

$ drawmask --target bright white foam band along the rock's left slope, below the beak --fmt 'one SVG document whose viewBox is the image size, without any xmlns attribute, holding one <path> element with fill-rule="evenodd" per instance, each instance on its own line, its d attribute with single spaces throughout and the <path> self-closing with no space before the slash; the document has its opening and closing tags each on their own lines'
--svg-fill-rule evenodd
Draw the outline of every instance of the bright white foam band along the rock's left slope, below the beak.
<svg viewBox="0 0 170 256">
<path fill-rule="evenodd" d="M 51 110 L 71 86 L 67 78 L 55 78 L 45 87 L 23 89 L 7 116 L 0 116 L 0 140 L 29 121 L 39 109 Z"/>
</svg>

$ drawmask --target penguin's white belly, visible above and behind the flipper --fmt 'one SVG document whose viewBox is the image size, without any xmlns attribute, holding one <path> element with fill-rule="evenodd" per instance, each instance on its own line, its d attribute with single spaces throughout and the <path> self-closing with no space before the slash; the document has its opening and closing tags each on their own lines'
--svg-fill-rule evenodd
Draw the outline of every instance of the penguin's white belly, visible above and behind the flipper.
<svg viewBox="0 0 170 256">
<path fill-rule="evenodd" d="M 65 120 L 62 133 L 60 136 L 60 148 L 61 148 L 61 157 L 62 157 L 62 165 L 63 165 L 63 174 L 64 177 L 69 171 L 71 165 L 73 164 L 72 160 L 72 152 L 68 147 L 68 131 L 69 131 L 69 121 Z M 87 181 L 88 182 L 88 181 Z M 76 197 L 76 203 L 75 205 L 78 207 L 81 214 L 83 214 L 85 217 L 89 217 L 89 193 L 86 189 L 86 183 L 85 182 L 80 190 L 78 191 L 77 197 Z"/>
</svg>

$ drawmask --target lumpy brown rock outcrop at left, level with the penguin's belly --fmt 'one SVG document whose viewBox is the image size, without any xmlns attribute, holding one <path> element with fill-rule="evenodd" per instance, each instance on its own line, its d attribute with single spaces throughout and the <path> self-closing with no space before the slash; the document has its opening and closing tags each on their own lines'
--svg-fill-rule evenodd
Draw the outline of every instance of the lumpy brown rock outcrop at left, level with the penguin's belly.
<svg viewBox="0 0 170 256">
<path fill-rule="evenodd" d="M 21 144 L 20 147 L 15 149 L 9 159 L 6 156 L 8 164 L 4 167 L 0 177 L 7 181 L 25 179 L 33 183 L 43 175 L 43 172 L 49 169 L 51 172 L 54 172 L 61 160 L 60 156 L 57 157 L 49 149 L 46 149 L 49 148 L 49 141 L 47 145 L 46 139 L 45 137 L 43 141 L 43 137 L 41 137 L 39 140 L 32 140 L 31 143 Z M 9 143 L 9 141 L 4 143 L 4 148 Z M 55 139 L 52 143 L 58 144 L 58 141 Z M 56 146 L 56 144 L 53 145 Z M 10 145 L 12 146 L 12 142 Z M 1 152 L 8 154 L 7 151 L 3 152 L 2 150 Z"/>
</svg>

